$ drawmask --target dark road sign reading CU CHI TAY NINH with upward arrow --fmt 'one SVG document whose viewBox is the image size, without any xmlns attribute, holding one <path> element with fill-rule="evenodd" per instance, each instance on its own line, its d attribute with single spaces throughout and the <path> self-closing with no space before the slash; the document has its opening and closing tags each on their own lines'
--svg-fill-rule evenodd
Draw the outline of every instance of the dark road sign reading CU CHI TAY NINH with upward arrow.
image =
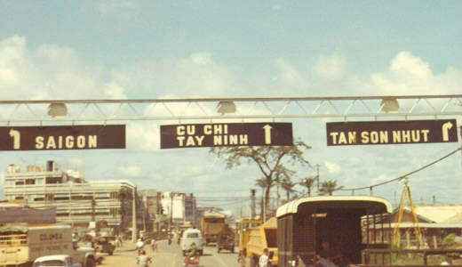
<svg viewBox="0 0 462 267">
<path fill-rule="evenodd" d="M 291 123 L 161 125 L 161 149 L 291 145 Z"/>
</svg>

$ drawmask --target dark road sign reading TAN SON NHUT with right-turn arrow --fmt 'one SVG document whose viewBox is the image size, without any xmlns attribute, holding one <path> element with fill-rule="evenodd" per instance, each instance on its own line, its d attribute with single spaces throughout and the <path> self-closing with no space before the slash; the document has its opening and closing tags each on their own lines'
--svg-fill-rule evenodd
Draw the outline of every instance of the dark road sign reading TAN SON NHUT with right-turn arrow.
<svg viewBox="0 0 462 267">
<path fill-rule="evenodd" d="M 458 142 L 455 119 L 327 123 L 327 145 Z"/>
</svg>

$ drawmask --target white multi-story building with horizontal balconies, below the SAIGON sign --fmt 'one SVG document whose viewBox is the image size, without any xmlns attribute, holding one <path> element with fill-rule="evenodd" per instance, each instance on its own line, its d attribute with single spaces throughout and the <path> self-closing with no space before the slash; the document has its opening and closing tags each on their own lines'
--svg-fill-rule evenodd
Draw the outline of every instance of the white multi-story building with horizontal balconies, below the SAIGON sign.
<svg viewBox="0 0 462 267">
<path fill-rule="evenodd" d="M 55 206 L 57 221 L 88 227 L 104 222 L 115 231 L 131 227 L 136 186 L 128 181 L 85 182 L 82 175 L 46 167 L 28 166 L 20 172 L 11 165 L 4 174 L 4 197 L 25 199 L 31 207 Z"/>
</svg>

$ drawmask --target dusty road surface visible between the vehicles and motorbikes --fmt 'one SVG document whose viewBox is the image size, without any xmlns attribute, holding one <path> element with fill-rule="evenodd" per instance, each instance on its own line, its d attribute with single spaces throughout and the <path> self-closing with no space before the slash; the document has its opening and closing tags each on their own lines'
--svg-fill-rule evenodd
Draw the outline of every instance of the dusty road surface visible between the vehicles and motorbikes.
<svg viewBox="0 0 462 267">
<path fill-rule="evenodd" d="M 147 255 L 151 256 L 153 263 L 151 267 L 181 267 L 184 257 L 181 255 L 179 245 L 175 242 L 169 246 L 166 240 L 157 241 L 157 251 L 153 252 L 149 246 L 145 247 Z M 117 247 L 114 255 L 105 256 L 105 260 L 98 266 L 105 267 L 136 267 L 137 252 L 135 244 L 131 241 L 123 242 L 122 247 Z M 204 247 L 203 255 L 200 257 L 199 266 L 213 267 L 237 267 L 237 254 L 229 251 L 217 253 L 216 247 Z"/>
</svg>

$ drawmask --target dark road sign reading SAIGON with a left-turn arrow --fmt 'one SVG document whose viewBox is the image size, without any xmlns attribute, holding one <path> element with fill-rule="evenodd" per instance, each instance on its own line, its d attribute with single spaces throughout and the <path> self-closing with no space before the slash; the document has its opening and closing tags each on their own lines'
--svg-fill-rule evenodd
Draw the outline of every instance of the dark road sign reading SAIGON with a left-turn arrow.
<svg viewBox="0 0 462 267">
<path fill-rule="evenodd" d="M 0 150 L 124 149 L 125 125 L 0 127 Z"/>
</svg>

